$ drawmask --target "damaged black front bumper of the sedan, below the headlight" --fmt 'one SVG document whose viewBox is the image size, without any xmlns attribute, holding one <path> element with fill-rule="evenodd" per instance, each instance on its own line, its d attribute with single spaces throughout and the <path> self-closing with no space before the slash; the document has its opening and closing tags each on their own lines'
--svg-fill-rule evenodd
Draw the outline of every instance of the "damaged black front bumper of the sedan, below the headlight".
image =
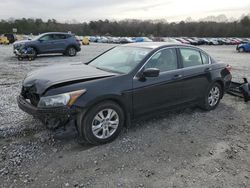
<svg viewBox="0 0 250 188">
<path fill-rule="evenodd" d="M 65 125 L 69 120 L 81 111 L 79 108 L 52 107 L 38 108 L 28 102 L 23 96 L 17 97 L 17 103 L 21 110 L 41 120 L 48 128 L 57 128 Z"/>
</svg>

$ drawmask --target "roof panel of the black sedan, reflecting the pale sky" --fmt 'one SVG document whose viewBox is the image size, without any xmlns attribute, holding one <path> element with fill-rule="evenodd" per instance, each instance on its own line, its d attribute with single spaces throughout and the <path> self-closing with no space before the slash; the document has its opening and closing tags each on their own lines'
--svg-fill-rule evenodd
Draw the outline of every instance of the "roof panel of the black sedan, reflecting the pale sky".
<svg viewBox="0 0 250 188">
<path fill-rule="evenodd" d="M 192 45 L 176 44 L 176 43 L 171 43 L 171 42 L 136 42 L 136 43 L 124 44 L 122 46 L 131 46 L 131 47 L 139 47 L 139 48 L 151 48 L 151 49 L 156 49 L 156 48 L 159 48 L 159 47 L 168 47 L 168 46 L 194 47 Z"/>
</svg>

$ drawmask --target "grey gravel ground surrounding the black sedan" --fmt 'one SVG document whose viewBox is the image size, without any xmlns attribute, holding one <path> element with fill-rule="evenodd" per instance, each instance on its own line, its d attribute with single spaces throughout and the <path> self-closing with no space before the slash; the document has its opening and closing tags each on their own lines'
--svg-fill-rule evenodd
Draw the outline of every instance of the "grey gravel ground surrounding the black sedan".
<svg viewBox="0 0 250 188">
<path fill-rule="evenodd" d="M 18 109 L 30 70 L 87 61 L 110 48 L 83 46 L 76 57 L 18 62 L 0 46 L 0 187 L 250 187 L 250 104 L 225 95 L 218 108 L 188 108 L 141 120 L 114 142 L 79 145 L 72 125 L 48 131 Z M 201 47 L 250 78 L 250 54 L 234 46 Z"/>
</svg>

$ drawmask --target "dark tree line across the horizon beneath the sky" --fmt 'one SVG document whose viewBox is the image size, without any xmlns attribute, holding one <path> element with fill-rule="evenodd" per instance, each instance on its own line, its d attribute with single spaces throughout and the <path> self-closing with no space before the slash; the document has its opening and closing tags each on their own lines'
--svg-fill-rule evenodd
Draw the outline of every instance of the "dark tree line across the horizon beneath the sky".
<svg viewBox="0 0 250 188">
<path fill-rule="evenodd" d="M 155 37 L 250 37 L 250 17 L 244 16 L 233 22 L 172 22 L 152 20 L 98 20 L 83 23 L 60 23 L 55 19 L 12 19 L 0 21 L 0 34 L 19 34 L 71 31 L 77 35 L 155 36 Z"/>
</svg>

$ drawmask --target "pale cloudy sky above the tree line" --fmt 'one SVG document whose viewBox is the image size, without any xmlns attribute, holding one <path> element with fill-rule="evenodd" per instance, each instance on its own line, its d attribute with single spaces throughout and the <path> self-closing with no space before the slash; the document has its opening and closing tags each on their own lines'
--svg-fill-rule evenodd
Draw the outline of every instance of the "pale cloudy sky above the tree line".
<svg viewBox="0 0 250 188">
<path fill-rule="evenodd" d="M 199 20 L 250 13 L 250 0 L 1 0 L 0 19 L 54 18 L 60 22 L 99 19 Z"/>
</svg>

